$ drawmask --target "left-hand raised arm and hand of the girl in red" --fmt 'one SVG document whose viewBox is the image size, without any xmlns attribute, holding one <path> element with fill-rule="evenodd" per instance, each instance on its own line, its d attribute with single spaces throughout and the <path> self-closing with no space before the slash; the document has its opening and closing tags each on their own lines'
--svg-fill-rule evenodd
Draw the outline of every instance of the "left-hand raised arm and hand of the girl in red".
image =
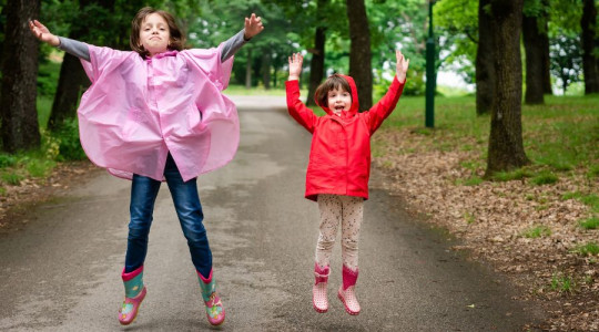
<svg viewBox="0 0 599 332">
<path fill-rule="evenodd" d="M 287 91 L 287 111 L 290 115 L 304 126 L 308 132 L 314 133 L 318 117 L 306 107 L 300 100 L 300 74 L 302 73 L 302 62 L 304 56 L 300 53 L 290 56 L 290 79 L 285 82 Z"/>
</svg>

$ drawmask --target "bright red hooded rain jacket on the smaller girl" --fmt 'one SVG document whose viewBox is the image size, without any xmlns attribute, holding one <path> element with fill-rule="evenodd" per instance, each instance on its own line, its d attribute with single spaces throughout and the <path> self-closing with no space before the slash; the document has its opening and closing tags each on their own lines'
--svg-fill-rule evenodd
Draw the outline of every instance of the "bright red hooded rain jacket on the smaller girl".
<svg viewBox="0 0 599 332">
<path fill-rule="evenodd" d="M 298 81 L 285 82 L 290 115 L 313 135 L 306 173 L 307 199 L 316 200 L 318 194 L 368 199 L 370 136 L 395 110 L 405 84 L 395 77 L 385 96 L 376 105 L 358 113 L 354 79 L 344 77 L 352 87 L 352 107 L 342 112 L 341 116 L 323 105 L 319 106 L 327 114 L 316 116 L 300 101 Z"/>
</svg>

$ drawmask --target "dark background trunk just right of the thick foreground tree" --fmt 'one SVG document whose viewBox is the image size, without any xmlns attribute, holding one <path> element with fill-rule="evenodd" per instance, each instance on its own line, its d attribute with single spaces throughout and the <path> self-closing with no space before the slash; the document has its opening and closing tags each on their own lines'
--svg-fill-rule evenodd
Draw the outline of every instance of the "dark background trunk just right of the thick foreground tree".
<svg viewBox="0 0 599 332">
<path fill-rule="evenodd" d="M 536 17 L 522 17 L 522 37 L 526 51 L 526 94 L 527 104 L 544 104 L 544 54 L 539 20 Z"/>
</svg>

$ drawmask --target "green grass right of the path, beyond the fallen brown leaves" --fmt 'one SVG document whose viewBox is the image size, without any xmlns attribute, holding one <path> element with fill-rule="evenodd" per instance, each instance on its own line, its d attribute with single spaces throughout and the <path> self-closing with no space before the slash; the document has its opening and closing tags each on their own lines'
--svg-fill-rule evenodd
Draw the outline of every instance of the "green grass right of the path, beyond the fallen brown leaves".
<svg viewBox="0 0 599 332">
<path fill-rule="evenodd" d="M 591 179 L 599 177 L 598 105 L 599 95 L 547 96 L 545 105 L 522 105 L 525 153 L 532 163 L 495 174 L 491 179 L 530 178 L 531 185 L 551 185 L 571 176 L 573 169 L 581 169 Z M 479 152 L 476 159 L 461 164 L 477 172 L 486 168 L 490 115 L 476 115 L 474 96 L 436 97 L 433 129 L 424 127 L 424 97 L 402 96 L 383 126 L 407 128 L 415 135 L 426 136 L 436 151 Z"/>
</svg>

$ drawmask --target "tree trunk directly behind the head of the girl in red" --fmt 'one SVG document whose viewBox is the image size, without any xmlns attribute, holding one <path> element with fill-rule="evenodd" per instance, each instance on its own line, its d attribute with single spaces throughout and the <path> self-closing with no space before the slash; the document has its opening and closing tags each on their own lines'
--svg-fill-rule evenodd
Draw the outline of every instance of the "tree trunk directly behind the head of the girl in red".
<svg viewBox="0 0 599 332">
<path fill-rule="evenodd" d="M 370 30 L 364 0 L 347 0 L 349 21 L 349 76 L 354 77 L 359 96 L 359 110 L 373 106 L 373 70 L 370 63 Z"/>
</svg>

